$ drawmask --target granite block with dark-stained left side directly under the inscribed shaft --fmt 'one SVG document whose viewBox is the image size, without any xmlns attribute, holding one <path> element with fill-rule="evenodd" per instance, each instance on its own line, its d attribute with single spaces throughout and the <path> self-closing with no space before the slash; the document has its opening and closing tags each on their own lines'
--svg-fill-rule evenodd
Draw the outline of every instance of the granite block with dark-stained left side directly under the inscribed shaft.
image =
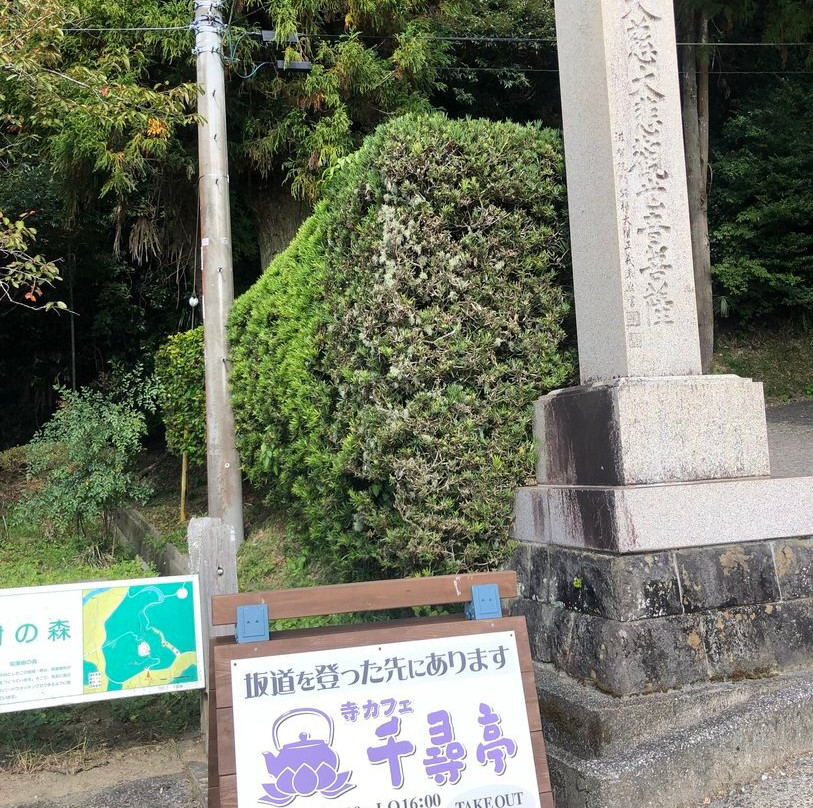
<svg viewBox="0 0 813 808">
<path fill-rule="evenodd" d="M 624 378 L 557 390 L 534 411 L 537 480 L 642 485 L 770 474 L 762 384 Z"/>
</svg>

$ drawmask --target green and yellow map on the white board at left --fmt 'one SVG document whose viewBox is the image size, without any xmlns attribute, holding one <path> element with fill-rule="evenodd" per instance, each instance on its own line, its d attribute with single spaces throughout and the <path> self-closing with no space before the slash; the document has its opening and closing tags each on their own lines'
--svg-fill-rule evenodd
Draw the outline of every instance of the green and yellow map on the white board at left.
<svg viewBox="0 0 813 808">
<path fill-rule="evenodd" d="M 192 584 L 82 592 L 84 692 L 183 685 L 198 678 Z"/>
</svg>

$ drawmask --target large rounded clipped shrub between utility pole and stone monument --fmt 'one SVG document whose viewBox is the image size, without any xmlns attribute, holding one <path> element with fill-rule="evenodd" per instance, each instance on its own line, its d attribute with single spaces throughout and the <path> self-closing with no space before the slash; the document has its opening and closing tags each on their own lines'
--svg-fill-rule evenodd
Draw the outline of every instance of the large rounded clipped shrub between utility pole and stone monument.
<svg viewBox="0 0 813 808">
<path fill-rule="evenodd" d="M 504 555 L 532 402 L 572 371 L 563 209 L 557 134 L 401 118 L 235 304 L 244 468 L 337 577 Z"/>
</svg>

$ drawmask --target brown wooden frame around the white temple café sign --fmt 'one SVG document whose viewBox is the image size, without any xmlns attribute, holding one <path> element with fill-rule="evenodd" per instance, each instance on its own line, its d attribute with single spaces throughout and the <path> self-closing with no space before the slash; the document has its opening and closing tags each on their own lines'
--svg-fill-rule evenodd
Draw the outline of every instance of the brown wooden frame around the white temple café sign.
<svg viewBox="0 0 813 808">
<path fill-rule="evenodd" d="M 216 595 L 212 598 L 212 622 L 215 626 L 233 625 L 236 623 L 239 606 L 260 603 L 268 606 L 272 620 L 465 603 L 471 600 L 471 587 L 484 583 L 497 584 L 501 598 L 516 596 L 516 573 L 513 571 L 373 581 L 242 595 Z M 554 808 L 525 618 L 467 620 L 463 615 L 294 629 L 275 632 L 270 640 L 259 643 L 237 643 L 229 637 L 213 639 L 209 656 L 209 808 L 237 808 L 231 685 L 233 660 L 502 631 L 512 631 L 516 637 L 541 808 Z"/>
</svg>

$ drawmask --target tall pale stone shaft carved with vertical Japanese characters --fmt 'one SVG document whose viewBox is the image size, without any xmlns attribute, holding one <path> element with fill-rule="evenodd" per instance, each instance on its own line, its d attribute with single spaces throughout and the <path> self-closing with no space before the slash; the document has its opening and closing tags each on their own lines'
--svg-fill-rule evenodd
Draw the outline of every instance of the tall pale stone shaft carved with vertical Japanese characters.
<svg viewBox="0 0 813 808">
<path fill-rule="evenodd" d="M 674 0 L 556 0 L 583 383 L 701 372 Z"/>
</svg>

